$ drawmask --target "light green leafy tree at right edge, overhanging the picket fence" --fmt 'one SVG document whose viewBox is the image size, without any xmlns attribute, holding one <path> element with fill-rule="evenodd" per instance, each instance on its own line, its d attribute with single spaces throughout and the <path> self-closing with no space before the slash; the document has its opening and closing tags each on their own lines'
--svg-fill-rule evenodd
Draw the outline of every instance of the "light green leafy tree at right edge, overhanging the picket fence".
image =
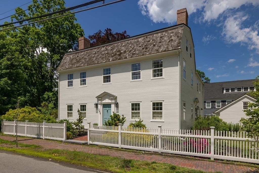
<svg viewBox="0 0 259 173">
<path fill-rule="evenodd" d="M 256 91 L 249 93 L 256 99 L 255 103 L 249 103 L 246 112 L 247 118 L 241 118 L 240 122 L 243 124 L 241 130 L 248 132 L 248 136 L 259 142 L 259 76 L 254 82 Z M 259 149 L 258 146 L 254 146 Z"/>
</svg>

